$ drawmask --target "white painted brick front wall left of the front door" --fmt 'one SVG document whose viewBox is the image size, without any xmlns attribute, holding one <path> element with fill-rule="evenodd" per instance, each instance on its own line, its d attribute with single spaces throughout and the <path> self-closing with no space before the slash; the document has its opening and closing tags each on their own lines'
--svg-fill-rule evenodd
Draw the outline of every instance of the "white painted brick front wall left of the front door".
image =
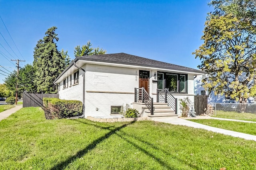
<svg viewBox="0 0 256 170">
<path fill-rule="evenodd" d="M 85 117 L 113 117 L 111 106 L 132 104 L 134 88 L 139 86 L 138 74 L 135 68 L 87 64 Z"/>
</svg>

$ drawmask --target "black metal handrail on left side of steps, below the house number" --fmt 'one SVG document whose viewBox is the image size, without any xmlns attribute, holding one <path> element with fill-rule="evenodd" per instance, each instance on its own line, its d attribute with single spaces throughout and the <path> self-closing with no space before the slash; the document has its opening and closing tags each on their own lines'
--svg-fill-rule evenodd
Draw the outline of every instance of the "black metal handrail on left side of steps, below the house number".
<svg viewBox="0 0 256 170">
<path fill-rule="evenodd" d="M 146 105 L 151 115 L 154 115 L 154 102 L 145 88 L 134 88 L 134 102 L 142 102 Z"/>
</svg>

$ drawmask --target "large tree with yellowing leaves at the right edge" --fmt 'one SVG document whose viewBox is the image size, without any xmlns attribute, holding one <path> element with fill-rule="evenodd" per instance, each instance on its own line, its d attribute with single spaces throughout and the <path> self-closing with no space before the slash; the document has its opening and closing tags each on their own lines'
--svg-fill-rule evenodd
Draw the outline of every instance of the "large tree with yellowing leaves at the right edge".
<svg viewBox="0 0 256 170">
<path fill-rule="evenodd" d="M 193 54 L 206 71 L 209 94 L 231 96 L 240 103 L 256 94 L 256 1 L 213 0 L 202 40 Z"/>
</svg>

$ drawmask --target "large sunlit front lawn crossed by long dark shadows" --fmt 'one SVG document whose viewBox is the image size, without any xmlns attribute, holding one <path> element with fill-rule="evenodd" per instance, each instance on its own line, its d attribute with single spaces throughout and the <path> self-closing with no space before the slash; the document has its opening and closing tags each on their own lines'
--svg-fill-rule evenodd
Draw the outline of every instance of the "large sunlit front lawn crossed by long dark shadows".
<svg viewBox="0 0 256 170">
<path fill-rule="evenodd" d="M 0 169 L 256 169 L 256 142 L 153 121 L 46 120 L 26 107 L 0 121 Z"/>
</svg>

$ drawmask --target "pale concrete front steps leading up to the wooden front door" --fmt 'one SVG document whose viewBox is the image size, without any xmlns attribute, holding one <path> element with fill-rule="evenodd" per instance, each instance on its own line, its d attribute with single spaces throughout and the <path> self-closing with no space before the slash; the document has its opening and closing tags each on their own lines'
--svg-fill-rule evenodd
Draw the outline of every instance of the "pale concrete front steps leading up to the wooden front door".
<svg viewBox="0 0 256 170">
<path fill-rule="evenodd" d="M 134 102 L 133 108 L 140 112 L 140 117 L 170 117 L 177 116 L 175 111 L 167 103 L 154 103 L 154 115 L 150 114 L 144 103 Z"/>
</svg>

